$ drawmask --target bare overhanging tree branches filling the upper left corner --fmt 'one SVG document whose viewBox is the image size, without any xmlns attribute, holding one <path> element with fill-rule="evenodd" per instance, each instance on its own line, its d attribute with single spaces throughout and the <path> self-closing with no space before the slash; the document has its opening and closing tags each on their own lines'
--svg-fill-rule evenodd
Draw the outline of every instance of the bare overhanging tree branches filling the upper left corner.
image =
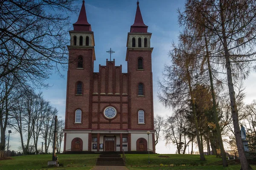
<svg viewBox="0 0 256 170">
<path fill-rule="evenodd" d="M 0 1 L 0 79 L 19 73 L 33 86 L 47 86 L 44 80 L 56 63 L 67 63 L 66 36 L 73 2 Z"/>
</svg>

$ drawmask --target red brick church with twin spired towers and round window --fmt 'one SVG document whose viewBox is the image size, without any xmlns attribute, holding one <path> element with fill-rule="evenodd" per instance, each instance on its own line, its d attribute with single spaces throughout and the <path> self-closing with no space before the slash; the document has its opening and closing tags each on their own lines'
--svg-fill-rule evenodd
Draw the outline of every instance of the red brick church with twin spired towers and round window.
<svg viewBox="0 0 256 170">
<path fill-rule="evenodd" d="M 150 46 L 139 2 L 127 37 L 127 73 L 115 60 L 99 65 L 84 0 L 70 33 L 64 152 L 153 151 L 154 113 Z M 124 44 L 125 45 L 125 44 Z"/>
</svg>

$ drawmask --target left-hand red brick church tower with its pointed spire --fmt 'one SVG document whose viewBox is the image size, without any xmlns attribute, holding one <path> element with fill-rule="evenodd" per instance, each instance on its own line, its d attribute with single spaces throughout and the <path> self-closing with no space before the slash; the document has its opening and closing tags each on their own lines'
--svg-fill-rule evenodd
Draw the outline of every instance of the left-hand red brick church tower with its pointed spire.
<svg viewBox="0 0 256 170">
<path fill-rule="evenodd" d="M 69 64 L 67 71 L 67 100 L 65 129 L 73 129 L 74 133 L 81 129 L 91 128 L 91 99 L 93 83 L 93 62 L 95 60 L 94 36 L 91 25 L 87 21 L 84 0 L 76 23 L 70 33 Z M 67 137 L 67 134 L 69 135 Z M 74 143 L 73 133 L 65 133 L 66 143 Z M 89 134 L 81 138 L 88 140 Z M 80 145 L 85 141 L 79 141 Z M 87 143 L 87 142 L 86 142 Z M 65 149 L 64 149 L 65 150 Z"/>
</svg>

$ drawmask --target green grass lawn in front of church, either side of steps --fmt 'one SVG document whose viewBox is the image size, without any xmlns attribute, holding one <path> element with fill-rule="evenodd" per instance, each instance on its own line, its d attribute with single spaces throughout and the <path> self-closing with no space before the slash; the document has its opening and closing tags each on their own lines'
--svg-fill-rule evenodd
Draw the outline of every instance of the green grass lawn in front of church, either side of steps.
<svg viewBox="0 0 256 170">
<path fill-rule="evenodd" d="M 126 167 L 129 170 L 239 170 L 240 165 L 222 166 L 189 166 L 196 164 L 209 164 L 220 161 L 215 156 L 205 156 L 206 161 L 200 161 L 199 155 L 175 155 L 175 154 L 151 154 L 150 165 L 156 167 L 140 167 L 148 165 L 148 155 L 146 154 L 126 154 Z M 159 157 L 169 156 L 169 158 Z M 10 160 L 0 160 L 0 170 L 90 170 L 96 164 L 98 154 L 77 154 L 77 155 L 58 155 L 59 163 L 65 167 L 46 168 L 47 161 L 52 159 L 52 155 L 28 155 L 15 156 Z M 163 164 L 163 167 L 159 167 Z M 165 165 L 174 164 L 179 166 L 164 167 Z M 181 166 L 185 164 L 186 167 Z M 86 166 L 84 166 L 86 165 Z M 44 168 L 43 168 L 44 167 Z M 256 166 L 252 166 L 256 170 Z"/>
</svg>

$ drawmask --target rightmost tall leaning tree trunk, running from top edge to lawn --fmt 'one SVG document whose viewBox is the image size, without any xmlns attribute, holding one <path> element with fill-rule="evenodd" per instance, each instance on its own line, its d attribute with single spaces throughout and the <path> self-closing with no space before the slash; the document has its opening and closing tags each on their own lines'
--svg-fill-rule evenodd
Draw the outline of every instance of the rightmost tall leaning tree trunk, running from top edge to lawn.
<svg viewBox="0 0 256 170">
<path fill-rule="evenodd" d="M 221 14 L 222 37 L 223 37 L 224 53 L 225 53 L 226 68 L 227 68 L 227 82 L 228 82 L 228 89 L 230 94 L 230 104 L 231 104 L 231 110 L 232 110 L 234 132 L 236 137 L 236 145 L 239 153 L 241 170 L 249 170 L 251 168 L 245 157 L 244 145 L 242 143 L 240 127 L 239 127 L 238 110 L 236 108 L 236 97 L 235 97 L 232 70 L 231 70 L 231 64 L 230 64 L 230 56 L 229 56 L 229 51 L 227 47 L 227 37 L 225 33 L 224 11 L 222 8 L 221 0 L 219 1 L 219 3 L 220 3 L 220 14 Z"/>
</svg>

